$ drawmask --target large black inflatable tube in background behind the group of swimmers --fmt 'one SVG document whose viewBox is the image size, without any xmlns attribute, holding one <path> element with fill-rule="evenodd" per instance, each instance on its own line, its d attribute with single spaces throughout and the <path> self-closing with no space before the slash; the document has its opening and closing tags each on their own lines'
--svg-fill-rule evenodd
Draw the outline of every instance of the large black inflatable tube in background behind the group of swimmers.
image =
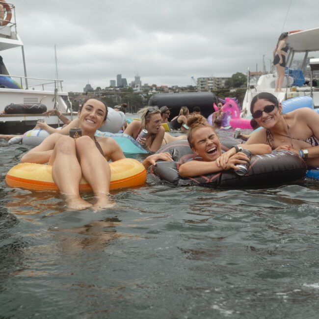
<svg viewBox="0 0 319 319">
<path fill-rule="evenodd" d="M 169 119 L 178 115 L 182 106 L 187 106 L 189 112 L 192 112 L 195 106 L 199 106 L 202 115 L 208 117 L 214 112 L 214 103 L 217 104 L 217 98 L 212 92 L 158 93 L 148 101 L 149 106 L 169 107 Z"/>
</svg>

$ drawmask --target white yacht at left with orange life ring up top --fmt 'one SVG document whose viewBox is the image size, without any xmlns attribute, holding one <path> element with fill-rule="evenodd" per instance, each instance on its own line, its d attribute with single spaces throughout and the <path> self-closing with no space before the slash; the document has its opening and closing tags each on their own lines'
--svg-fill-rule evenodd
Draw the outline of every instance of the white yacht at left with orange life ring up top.
<svg viewBox="0 0 319 319">
<path fill-rule="evenodd" d="M 72 104 L 68 93 L 62 90 L 62 80 L 39 79 L 27 77 L 27 66 L 24 54 L 24 44 L 17 32 L 15 18 L 15 6 L 11 3 L 1 1 L 2 15 L 0 15 L 0 133 L 24 133 L 32 129 L 40 114 L 5 114 L 5 106 L 45 105 L 48 110 L 57 109 L 72 119 Z M 11 75 L 1 57 L 1 51 L 13 48 L 21 48 L 24 75 Z M 35 107 L 36 108 L 36 107 Z M 51 115 L 46 122 L 53 127 L 60 124 L 57 116 Z"/>
</svg>

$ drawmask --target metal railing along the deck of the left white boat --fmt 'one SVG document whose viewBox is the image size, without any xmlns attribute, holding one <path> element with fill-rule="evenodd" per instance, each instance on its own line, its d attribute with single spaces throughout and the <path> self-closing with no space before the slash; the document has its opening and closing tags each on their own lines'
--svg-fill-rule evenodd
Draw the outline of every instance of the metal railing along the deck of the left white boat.
<svg viewBox="0 0 319 319">
<path fill-rule="evenodd" d="M 58 79 L 41 79 L 41 78 L 30 78 L 15 75 L 0 74 L 0 77 L 7 77 L 13 80 L 13 84 L 16 84 L 16 88 L 26 89 L 26 90 L 55 90 L 63 91 L 62 82 L 63 80 Z M 24 82 L 26 85 L 24 85 Z M 19 87 L 20 86 L 20 87 Z"/>
</svg>

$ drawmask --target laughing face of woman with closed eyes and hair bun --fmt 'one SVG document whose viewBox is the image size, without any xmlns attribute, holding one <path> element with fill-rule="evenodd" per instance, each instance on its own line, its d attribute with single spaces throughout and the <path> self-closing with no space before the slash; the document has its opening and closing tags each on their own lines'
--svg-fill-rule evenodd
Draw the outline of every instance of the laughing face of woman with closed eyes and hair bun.
<svg viewBox="0 0 319 319">
<path fill-rule="evenodd" d="M 216 160 L 221 155 L 221 147 L 217 134 L 212 127 L 201 127 L 191 135 L 192 150 L 204 161 Z"/>
</svg>

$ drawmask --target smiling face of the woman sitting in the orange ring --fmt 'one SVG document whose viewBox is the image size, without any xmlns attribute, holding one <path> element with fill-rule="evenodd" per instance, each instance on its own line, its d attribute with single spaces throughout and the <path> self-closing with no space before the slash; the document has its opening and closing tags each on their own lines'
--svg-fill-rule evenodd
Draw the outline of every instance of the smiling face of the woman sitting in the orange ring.
<svg viewBox="0 0 319 319">
<path fill-rule="evenodd" d="M 86 131 L 96 131 L 105 123 L 106 106 L 95 99 L 87 100 L 79 111 L 80 128 Z"/>
</svg>

